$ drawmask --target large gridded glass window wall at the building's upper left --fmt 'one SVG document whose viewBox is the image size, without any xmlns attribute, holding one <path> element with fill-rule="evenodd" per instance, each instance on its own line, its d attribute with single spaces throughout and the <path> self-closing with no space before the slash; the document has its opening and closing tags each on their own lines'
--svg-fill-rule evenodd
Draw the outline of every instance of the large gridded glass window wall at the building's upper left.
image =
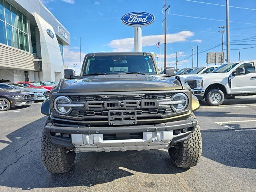
<svg viewBox="0 0 256 192">
<path fill-rule="evenodd" d="M 0 0 L 0 43 L 29 52 L 27 17 Z"/>
</svg>

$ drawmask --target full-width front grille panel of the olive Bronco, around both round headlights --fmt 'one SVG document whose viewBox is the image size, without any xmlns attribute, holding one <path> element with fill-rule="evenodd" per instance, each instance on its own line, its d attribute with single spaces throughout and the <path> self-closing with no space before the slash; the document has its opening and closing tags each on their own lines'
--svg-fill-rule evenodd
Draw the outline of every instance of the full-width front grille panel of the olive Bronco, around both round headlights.
<svg viewBox="0 0 256 192">
<path fill-rule="evenodd" d="M 182 112 L 172 110 L 168 101 L 177 92 L 184 92 L 189 97 L 189 91 L 148 91 L 148 92 L 104 92 L 68 94 L 72 104 L 83 104 L 82 107 L 72 107 L 67 115 L 59 115 L 53 111 L 53 116 L 64 120 L 76 120 L 83 124 L 136 124 L 136 121 L 164 120 L 188 112 L 188 107 Z M 57 96 L 53 94 L 52 100 Z M 118 110 L 123 114 L 118 118 Z M 128 114 L 125 113 L 127 110 Z M 132 112 L 136 111 L 135 115 Z"/>
</svg>

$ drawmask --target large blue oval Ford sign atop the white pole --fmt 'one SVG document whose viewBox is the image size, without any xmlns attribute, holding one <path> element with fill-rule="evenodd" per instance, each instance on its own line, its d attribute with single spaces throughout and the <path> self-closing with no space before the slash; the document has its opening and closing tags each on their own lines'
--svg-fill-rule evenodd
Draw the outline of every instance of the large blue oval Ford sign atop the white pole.
<svg viewBox="0 0 256 192">
<path fill-rule="evenodd" d="M 155 17 L 146 12 L 132 12 L 122 16 L 121 20 L 129 26 L 145 26 L 154 22 Z"/>
</svg>

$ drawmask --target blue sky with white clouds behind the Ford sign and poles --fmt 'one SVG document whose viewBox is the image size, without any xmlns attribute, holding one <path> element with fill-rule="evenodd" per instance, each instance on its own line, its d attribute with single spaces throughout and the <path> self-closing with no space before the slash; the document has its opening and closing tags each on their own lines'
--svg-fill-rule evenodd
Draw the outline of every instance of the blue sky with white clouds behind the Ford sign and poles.
<svg viewBox="0 0 256 192">
<path fill-rule="evenodd" d="M 155 44 L 159 40 L 163 42 L 164 0 L 42 0 L 42 2 L 70 32 L 71 45 L 64 49 L 64 62 L 69 66 L 73 63 L 80 64 L 79 37 L 82 42 L 82 57 L 88 52 L 132 51 L 133 27 L 124 25 L 120 19 L 124 14 L 134 11 L 149 12 L 155 16 L 154 23 L 142 27 L 142 51 L 159 54 L 159 48 Z M 199 52 L 202 52 L 199 54 L 199 66 L 206 65 L 204 51 L 221 44 L 222 34 L 218 33 L 220 30 L 218 27 L 226 26 L 226 22 L 221 21 L 226 20 L 225 6 L 214 4 L 225 5 L 225 3 L 225 0 L 167 0 L 167 4 L 171 6 L 170 14 L 167 15 L 168 65 L 172 66 L 175 63 L 174 53 L 179 52 L 178 68 L 191 67 L 192 46 L 197 45 Z M 253 36 L 256 36 L 256 0 L 230 0 L 230 44 L 232 44 L 230 48 L 256 46 L 256 37 Z M 196 48 L 194 51 L 196 52 Z M 221 51 L 221 46 L 209 50 L 209 52 L 216 51 Z M 256 58 L 256 48 L 230 50 L 231 61 L 238 60 L 239 51 L 241 60 Z M 164 44 L 161 44 L 161 53 L 164 53 Z M 194 56 L 195 64 L 196 56 Z M 80 70 L 77 69 L 77 72 Z"/>
</svg>

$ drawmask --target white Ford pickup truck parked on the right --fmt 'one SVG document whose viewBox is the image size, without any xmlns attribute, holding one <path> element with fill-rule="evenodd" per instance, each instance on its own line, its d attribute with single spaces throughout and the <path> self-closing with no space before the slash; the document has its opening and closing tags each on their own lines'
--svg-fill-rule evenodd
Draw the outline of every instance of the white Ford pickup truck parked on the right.
<svg viewBox="0 0 256 192">
<path fill-rule="evenodd" d="M 256 60 L 227 63 L 210 74 L 188 76 L 185 82 L 198 100 L 218 106 L 224 98 L 256 95 L 255 67 Z"/>
</svg>

